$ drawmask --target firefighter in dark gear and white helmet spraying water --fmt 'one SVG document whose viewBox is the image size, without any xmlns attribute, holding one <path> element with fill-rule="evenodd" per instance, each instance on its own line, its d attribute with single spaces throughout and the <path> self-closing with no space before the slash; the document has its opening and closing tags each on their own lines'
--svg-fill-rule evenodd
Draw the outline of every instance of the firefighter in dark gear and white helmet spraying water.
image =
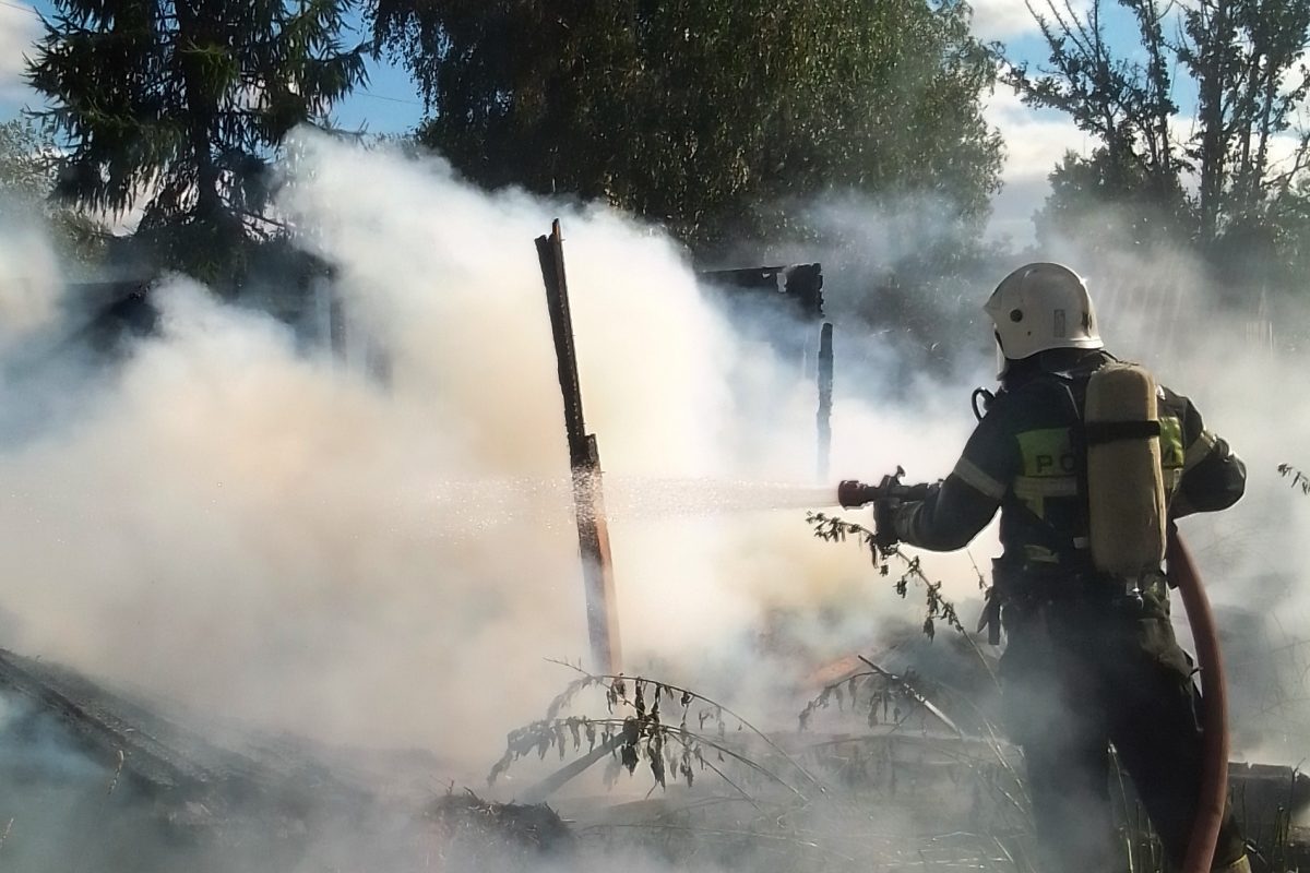
<svg viewBox="0 0 1310 873">
<path fill-rule="evenodd" d="M 875 504 L 882 544 L 962 548 L 1001 510 L 993 597 L 1007 636 L 1002 700 L 1007 732 L 1026 759 L 1041 869 L 1123 869 L 1108 743 L 1169 859 L 1180 865 L 1201 779 L 1192 661 L 1174 639 L 1159 559 L 1153 572 L 1115 576 L 1098 569 L 1089 548 L 1095 517 L 1083 407 L 1093 374 L 1115 359 L 1104 351 L 1082 279 L 1064 266 L 1020 267 L 985 312 L 996 326 L 1000 391 L 951 474 L 925 500 Z M 1204 427 L 1187 398 L 1161 387 L 1155 401 L 1153 450 L 1169 520 L 1237 503 L 1246 469 L 1227 442 Z M 1111 486 L 1159 487 L 1141 478 Z M 1250 869 L 1231 810 L 1213 869 Z"/>
</svg>

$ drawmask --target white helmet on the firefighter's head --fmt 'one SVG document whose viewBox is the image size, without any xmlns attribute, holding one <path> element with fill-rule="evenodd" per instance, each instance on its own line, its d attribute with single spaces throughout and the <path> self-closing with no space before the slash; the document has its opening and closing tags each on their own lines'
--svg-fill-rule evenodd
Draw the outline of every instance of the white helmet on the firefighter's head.
<svg viewBox="0 0 1310 873">
<path fill-rule="evenodd" d="M 1057 263 L 1030 263 L 1001 280 L 984 312 L 996 325 L 1003 376 L 1010 361 L 1048 348 L 1104 348 L 1087 287 Z"/>
</svg>

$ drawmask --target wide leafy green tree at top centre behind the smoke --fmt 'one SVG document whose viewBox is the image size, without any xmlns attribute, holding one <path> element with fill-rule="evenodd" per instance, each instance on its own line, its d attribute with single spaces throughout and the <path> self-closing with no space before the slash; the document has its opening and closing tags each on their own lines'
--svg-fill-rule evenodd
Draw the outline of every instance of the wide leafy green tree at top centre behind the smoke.
<svg viewBox="0 0 1310 873">
<path fill-rule="evenodd" d="M 605 199 L 698 250 L 795 200 L 929 191 L 977 223 L 996 59 L 958 0 L 372 0 L 419 139 L 487 186 Z"/>
</svg>

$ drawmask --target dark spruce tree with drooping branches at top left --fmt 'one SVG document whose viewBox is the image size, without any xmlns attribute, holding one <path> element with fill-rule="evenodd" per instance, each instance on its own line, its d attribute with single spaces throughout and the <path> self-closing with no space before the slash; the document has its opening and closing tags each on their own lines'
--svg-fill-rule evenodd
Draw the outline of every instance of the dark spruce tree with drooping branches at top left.
<svg viewBox="0 0 1310 873">
<path fill-rule="evenodd" d="M 364 80 L 348 0 L 54 0 L 28 80 L 67 144 L 55 195 L 111 215 L 164 267 L 229 288 L 275 236 L 270 164 Z"/>
</svg>

